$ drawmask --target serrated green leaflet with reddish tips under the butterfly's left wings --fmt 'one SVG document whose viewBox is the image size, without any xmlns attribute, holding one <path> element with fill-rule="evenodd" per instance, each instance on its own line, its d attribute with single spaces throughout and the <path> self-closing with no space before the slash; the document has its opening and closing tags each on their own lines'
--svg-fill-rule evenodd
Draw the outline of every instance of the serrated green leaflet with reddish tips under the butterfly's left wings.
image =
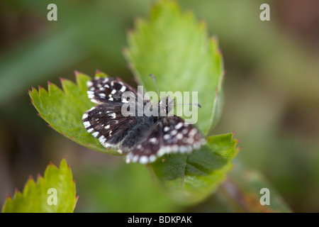
<svg viewBox="0 0 319 227">
<path fill-rule="evenodd" d="M 29 90 L 33 106 L 50 127 L 74 142 L 101 153 L 119 155 L 116 150 L 104 148 L 99 140 L 84 128 L 82 116 L 96 104 L 92 103 L 86 94 L 86 82 L 91 77 L 79 72 L 76 72 L 76 76 L 77 84 L 61 79 L 63 91 L 51 83 L 48 84 L 47 91 L 42 87 Z M 106 77 L 106 74 L 96 72 L 96 76 Z"/>
</svg>

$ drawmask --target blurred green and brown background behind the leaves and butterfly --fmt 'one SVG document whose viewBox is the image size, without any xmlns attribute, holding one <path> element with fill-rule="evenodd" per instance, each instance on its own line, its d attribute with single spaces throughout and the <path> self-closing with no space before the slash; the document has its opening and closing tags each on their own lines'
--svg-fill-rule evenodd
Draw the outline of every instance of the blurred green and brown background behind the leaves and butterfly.
<svg viewBox="0 0 319 227">
<path fill-rule="evenodd" d="M 57 4 L 57 21 L 47 21 L 50 3 Z M 74 70 L 91 76 L 101 70 L 135 85 L 122 49 L 151 3 L 0 2 L 0 204 L 30 174 L 65 157 L 77 183 L 76 212 L 238 211 L 219 191 L 201 204 L 175 204 L 145 166 L 73 143 L 47 127 L 30 102 L 32 86 L 74 81 Z M 271 21 L 259 20 L 262 3 L 269 4 Z M 264 175 L 292 211 L 318 212 L 319 1 L 179 4 L 206 21 L 223 52 L 225 104 L 211 134 L 236 131 L 242 150 L 235 166 Z"/>
</svg>

